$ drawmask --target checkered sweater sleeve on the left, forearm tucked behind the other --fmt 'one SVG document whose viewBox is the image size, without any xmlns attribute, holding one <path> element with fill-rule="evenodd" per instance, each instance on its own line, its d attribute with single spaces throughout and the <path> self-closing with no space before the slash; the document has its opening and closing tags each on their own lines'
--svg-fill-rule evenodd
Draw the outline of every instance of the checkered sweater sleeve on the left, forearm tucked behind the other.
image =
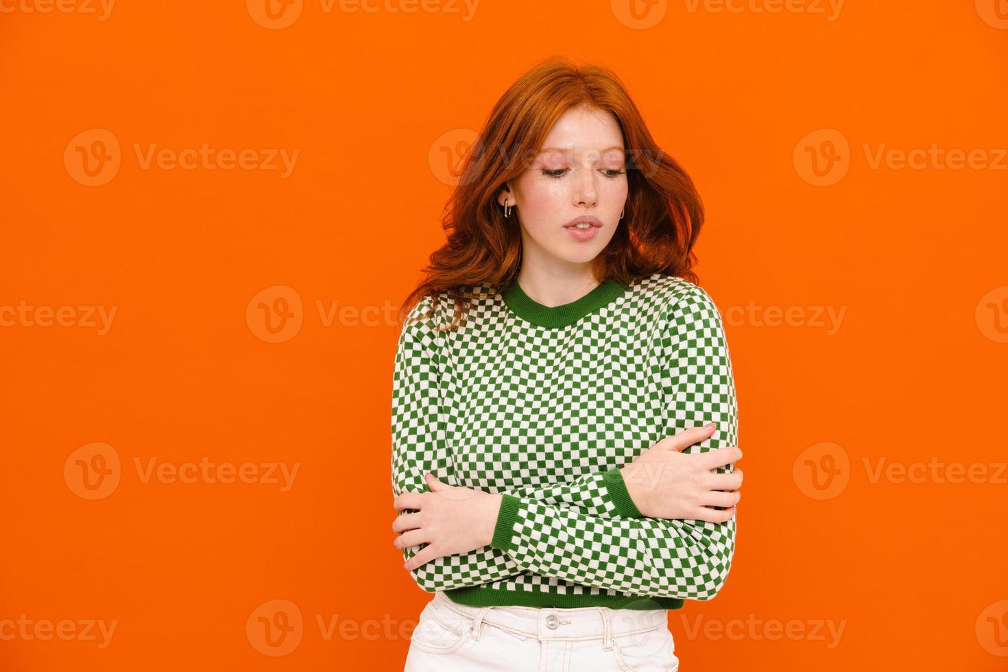
<svg viewBox="0 0 1008 672">
<path fill-rule="evenodd" d="M 442 337 L 431 305 L 425 296 L 410 311 L 396 347 L 392 376 L 392 494 L 429 492 L 427 472 L 451 483 L 454 465 L 447 446 L 444 408 L 439 393 L 443 380 L 438 362 Z M 507 493 L 560 509 L 577 508 L 598 516 L 641 516 L 630 499 L 618 468 L 580 476 L 570 481 L 537 484 Z M 404 510 L 400 515 L 410 513 Z M 423 546 L 402 549 L 403 559 L 416 555 Z M 429 560 L 410 570 L 426 591 L 480 585 L 519 574 L 525 570 L 502 549 L 484 546 Z"/>
</svg>

